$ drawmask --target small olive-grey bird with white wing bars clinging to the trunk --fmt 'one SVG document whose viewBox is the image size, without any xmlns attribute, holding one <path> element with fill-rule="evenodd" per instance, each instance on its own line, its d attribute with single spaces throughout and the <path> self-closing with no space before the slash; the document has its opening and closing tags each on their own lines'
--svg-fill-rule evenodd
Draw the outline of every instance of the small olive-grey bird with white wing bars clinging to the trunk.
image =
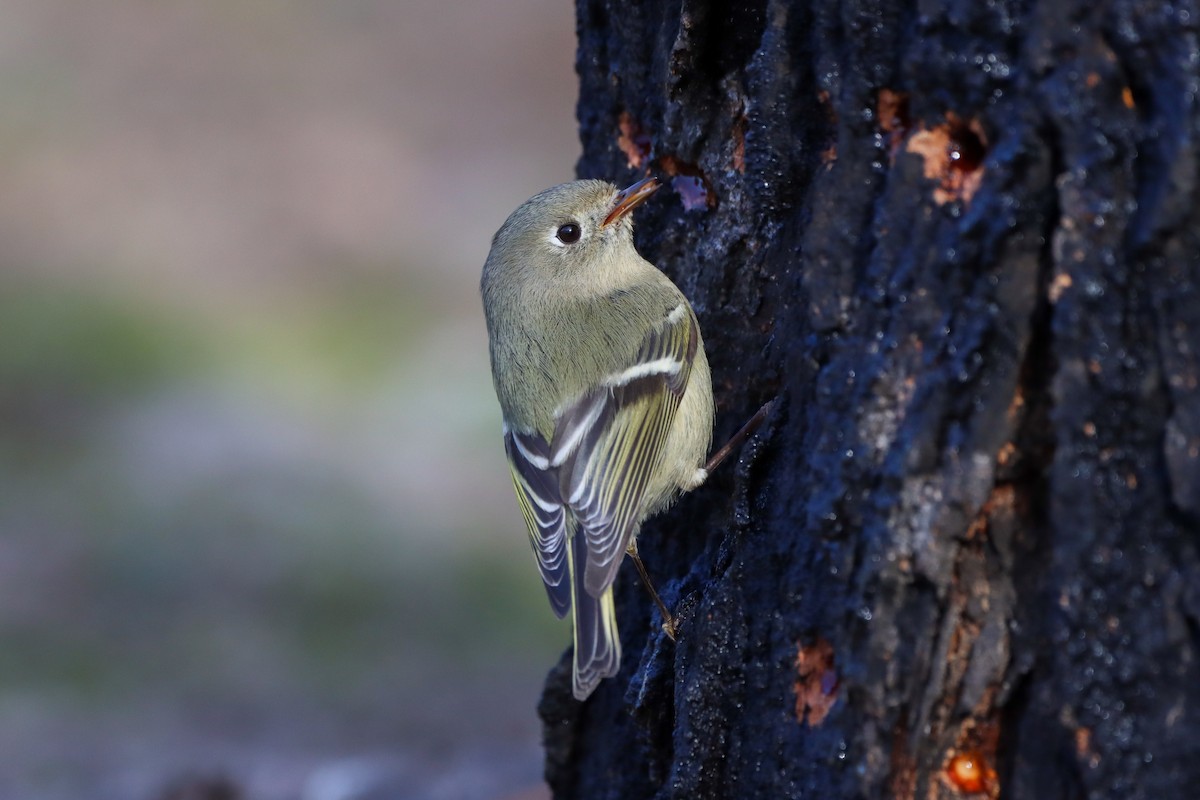
<svg viewBox="0 0 1200 800">
<path fill-rule="evenodd" d="M 642 522 L 708 477 L 713 385 L 696 314 L 634 247 L 659 188 L 546 190 L 492 239 L 480 288 L 517 500 L 559 618 L 574 613 L 574 693 L 617 674 L 612 584 Z M 722 453 L 709 462 L 720 461 Z"/>
</svg>

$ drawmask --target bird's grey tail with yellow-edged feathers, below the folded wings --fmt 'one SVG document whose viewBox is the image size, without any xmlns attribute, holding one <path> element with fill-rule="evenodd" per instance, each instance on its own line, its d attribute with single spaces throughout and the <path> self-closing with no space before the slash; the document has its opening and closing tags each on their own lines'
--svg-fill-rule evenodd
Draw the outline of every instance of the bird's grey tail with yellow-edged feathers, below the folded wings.
<svg viewBox="0 0 1200 800">
<path fill-rule="evenodd" d="M 575 697 L 586 700 L 605 678 L 620 668 L 620 638 L 617 633 L 617 609 L 612 587 L 599 597 L 588 594 L 583 585 L 587 564 L 587 541 L 582 531 L 568 546 L 571 570 L 571 607 L 575 619 Z"/>
</svg>

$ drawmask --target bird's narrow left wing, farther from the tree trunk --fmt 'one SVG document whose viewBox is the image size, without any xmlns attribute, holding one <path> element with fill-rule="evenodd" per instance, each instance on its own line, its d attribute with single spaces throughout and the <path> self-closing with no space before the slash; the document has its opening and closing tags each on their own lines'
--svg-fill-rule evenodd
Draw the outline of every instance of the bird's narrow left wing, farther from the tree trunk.
<svg viewBox="0 0 1200 800">
<path fill-rule="evenodd" d="M 562 619 L 571 609 L 566 511 L 559 497 L 558 470 L 550 467 L 550 445 L 536 432 L 520 433 L 505 426 L 504 450 L 550 606 Z"/>
</svg>

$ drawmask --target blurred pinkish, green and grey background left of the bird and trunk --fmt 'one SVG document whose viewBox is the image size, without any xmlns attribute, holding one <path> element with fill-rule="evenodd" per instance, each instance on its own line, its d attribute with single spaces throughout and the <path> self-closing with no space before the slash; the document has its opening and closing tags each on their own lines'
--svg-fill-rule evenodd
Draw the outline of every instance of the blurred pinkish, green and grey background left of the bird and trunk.
<svg viewBox="0 0 1200 800">
<path fill-rule="evenodd" d="M 478 281 L 570 4 L 0 19 L 0 796 L 548 796 Z"/>
</svg>

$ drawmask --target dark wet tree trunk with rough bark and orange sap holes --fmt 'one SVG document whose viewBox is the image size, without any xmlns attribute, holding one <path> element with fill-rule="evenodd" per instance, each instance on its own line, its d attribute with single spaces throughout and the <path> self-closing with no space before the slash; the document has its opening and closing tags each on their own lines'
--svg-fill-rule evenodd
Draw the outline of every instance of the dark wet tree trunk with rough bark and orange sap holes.
<svg viewBox="0 0 1200 800">
<path fill-rule="evenodd" d="M 582 176 L 700 315 L 716 443 L 557 798 L 1200 795 L 1194 2 L 580 0 Z"/>
</svg>

